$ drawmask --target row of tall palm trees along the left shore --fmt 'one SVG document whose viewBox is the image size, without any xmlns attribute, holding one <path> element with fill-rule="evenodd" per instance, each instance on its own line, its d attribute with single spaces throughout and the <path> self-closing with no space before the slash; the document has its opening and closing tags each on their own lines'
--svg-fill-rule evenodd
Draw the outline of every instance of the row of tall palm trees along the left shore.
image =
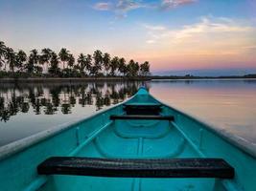
<svg viewBox="0 0 256 191">
<path fill-rule="evenodd" d="M 78 59 L 70 51 L 62 48 L 55 53 L 49 48 L 29 54 L 22 50 L 14 52 L 0 41 L 0 76 L 123 76 L 136 77 L 150 75 L 150 63 L 139 64 L 133 59 L 113 56 L 96 50 L 93 54 L 80 53 Z"/>
</svg>

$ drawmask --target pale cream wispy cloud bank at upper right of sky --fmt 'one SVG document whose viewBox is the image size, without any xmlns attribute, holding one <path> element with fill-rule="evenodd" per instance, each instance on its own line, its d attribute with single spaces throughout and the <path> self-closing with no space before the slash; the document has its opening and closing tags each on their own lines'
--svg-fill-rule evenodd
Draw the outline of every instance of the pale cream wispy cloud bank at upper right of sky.
<svg viewBox="0 0 256 191">
<path fill-rule="evenodd" d="M 165 26 L 143 25 L 147 29 L 151 40 L 156 38 L 165 40 L 193 40 L 195 37 L 216 36 L 224 33 L 234 34 L 255 31 L 255 28 L 245 25 L 239 21 L 228 18 L 202 17 L 199 22 L 192 25 L 185 25 L 179 30 L 168 29 Z"/>
</svg>

